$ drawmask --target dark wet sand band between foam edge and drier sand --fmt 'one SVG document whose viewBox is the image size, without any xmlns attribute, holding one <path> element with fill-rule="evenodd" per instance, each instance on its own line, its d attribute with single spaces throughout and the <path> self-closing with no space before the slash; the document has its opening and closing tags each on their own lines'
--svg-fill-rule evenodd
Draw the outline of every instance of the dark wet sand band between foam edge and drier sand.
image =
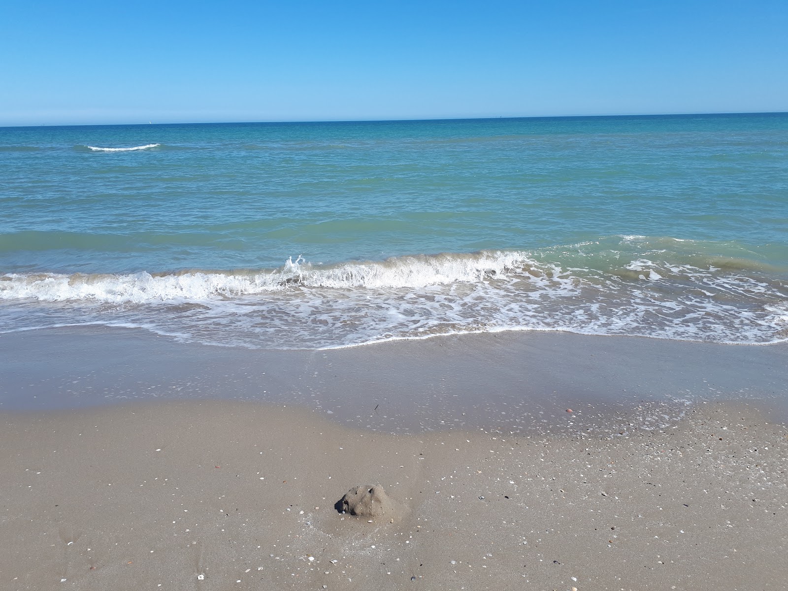
<svg viewBox="0 0 788 591">
<path fill-rule="evenodd" d="M 571 430 L 567 408 L 614 430 L 644 405 L 655 409 L 645 426 L 661 415 L 669 424 L 689 403 L 753 400 L 788 419 L 788 344 L 509 332 L 284 351 L 91 326 L 0 335 L 0 355 L 6 412 L 238 400 L 295 405 L 388 433 L 527 434 Z"/>
</svg>

